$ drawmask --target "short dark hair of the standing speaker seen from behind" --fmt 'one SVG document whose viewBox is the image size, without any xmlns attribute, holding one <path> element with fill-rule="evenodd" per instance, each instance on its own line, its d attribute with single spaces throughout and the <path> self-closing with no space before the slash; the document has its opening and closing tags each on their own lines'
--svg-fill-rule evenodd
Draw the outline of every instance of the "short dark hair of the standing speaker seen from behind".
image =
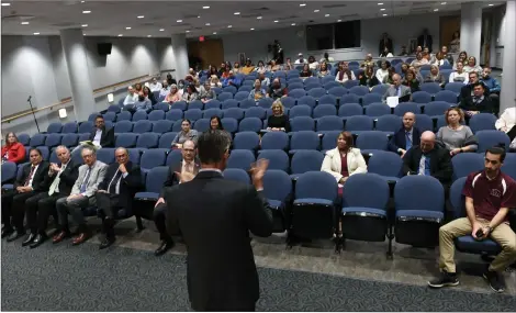
<svg viewBox="0 0 516 313">
<path fill-rule="evenodd" d="M 198 138 L 198 154 L 202 164 L 220 163 L 229 149 L 231 138 L 224 131 L 204 132 Z"/>
</svg>

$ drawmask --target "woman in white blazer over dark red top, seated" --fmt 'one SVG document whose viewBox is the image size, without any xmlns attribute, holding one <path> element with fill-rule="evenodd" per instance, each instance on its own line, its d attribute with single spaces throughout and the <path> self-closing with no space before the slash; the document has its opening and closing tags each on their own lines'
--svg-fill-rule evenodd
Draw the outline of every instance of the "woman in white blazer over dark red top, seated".
<svg viewBox="0 0 516 313">
<path fill-rule="evenodd" d="M 344 168 L 343 164 L 345 165 Z M 321 170 L 333 175 L 337 182 L 341 185 L 346 182 L 349 176 L 368 171 L 360 149 L 354 148 L 351 133 L 343 132 L 338 135 L 337 147 L 326 152 Z"/>
</svg>

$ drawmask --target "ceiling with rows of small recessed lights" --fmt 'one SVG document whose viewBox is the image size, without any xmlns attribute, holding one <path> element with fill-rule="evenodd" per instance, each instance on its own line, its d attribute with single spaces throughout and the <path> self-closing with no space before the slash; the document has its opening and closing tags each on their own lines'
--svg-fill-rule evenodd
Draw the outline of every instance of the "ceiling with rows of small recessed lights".
<svg viewBox="0 0 516 313">
<path fill-rule="evenodd" d="M 2 35 L 58 35 L 83 29 L 87 36 L 168 37 L 224 35 L 249 30 L 335 23 L 406 14 L 458 11 L 469 1 L 8 1 Z M 484 2 L 502 4 L 504 1 Z M 8 5 L 9 4 L 9 5 Z"/>
</svg>

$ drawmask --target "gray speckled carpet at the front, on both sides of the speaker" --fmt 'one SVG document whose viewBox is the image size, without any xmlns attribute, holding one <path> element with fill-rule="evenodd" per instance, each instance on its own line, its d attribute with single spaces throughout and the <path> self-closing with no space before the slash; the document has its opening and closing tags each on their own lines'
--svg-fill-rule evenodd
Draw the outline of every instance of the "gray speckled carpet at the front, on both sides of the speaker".
<svg viewBox="0 0 516 313">
<path fill-rule="evenodd" d="M 2 311 L 190 311 L 184 256 L 2 242 Z M 516 298 L 260 268 L 260 311 L 514 311 Z M 410 283 L 410 282 L 407 282 Z"/>
</svg>

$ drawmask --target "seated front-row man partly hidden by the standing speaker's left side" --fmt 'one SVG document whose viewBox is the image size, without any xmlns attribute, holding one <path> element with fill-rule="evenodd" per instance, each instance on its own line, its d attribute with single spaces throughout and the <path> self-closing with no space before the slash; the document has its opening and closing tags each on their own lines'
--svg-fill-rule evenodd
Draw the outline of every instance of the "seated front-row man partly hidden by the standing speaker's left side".
<svg viewBox="0 0 516 313">
<path fill-rule="evenodd" d="M 200 163 L 195 159 L 195 144 L 192 141 L 186 141 L 181 150 L 182 160 L 180 164 L 171 164 L 168 169 L 167 180 L 164 183 L 159 199 L 154 205 L 154 223 L 159 232 L 159 239 L 161 244 L 154 253 L 156 256 L 161 256 L 175 245 L 172 237 L 166 227 L 166 212 L 167 204 L 165 203 L 165 192 L 170 187 L 181 182 L 192 180 L 201 169 Z"/>
</svg>

